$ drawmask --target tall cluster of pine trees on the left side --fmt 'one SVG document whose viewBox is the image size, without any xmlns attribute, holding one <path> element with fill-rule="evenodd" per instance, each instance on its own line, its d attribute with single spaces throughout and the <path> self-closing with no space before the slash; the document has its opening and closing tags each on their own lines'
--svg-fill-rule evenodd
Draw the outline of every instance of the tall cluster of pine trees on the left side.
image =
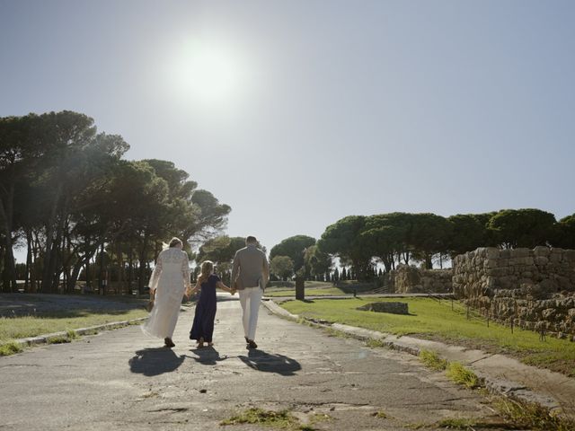
<svg viewBox="0 0 575 431">
<path fill-rule="evenodd" d="M 225 228 L 230 207 L 172 162 L 122 159 L 128 148 L 73 111 L 0 118 L 4 292 L 16 288 L 18 244 L 27 247 L 31 290 L 72 291 L 81 273 L 90 283 L 95 274 L 110 277 L 107 269 L 119 285 L 137 281 L 141 289 L 164 241 L 198 241 Z"/>
</svg>

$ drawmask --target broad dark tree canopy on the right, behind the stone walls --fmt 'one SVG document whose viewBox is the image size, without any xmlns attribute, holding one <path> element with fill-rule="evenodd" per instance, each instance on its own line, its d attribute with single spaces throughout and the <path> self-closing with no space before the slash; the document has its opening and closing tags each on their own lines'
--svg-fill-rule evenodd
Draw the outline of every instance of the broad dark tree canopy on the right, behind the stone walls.
<svg viewBox="0 0 575 431">
<path fill-rule="evenodd" d="M 352 272 L 367 279 L 377 262 L 385 270 L 396 263 L 453 258 L 478 247 L 533 248 L 537 245 L 575 246 L 575 215 L 559 223 L 539 209 L 503 209 L 485 214 L 443 217 L 431 213 L 389 213 L 347 216 L 325 229 L 318 248 L 350 262 Z"/>
</svg>

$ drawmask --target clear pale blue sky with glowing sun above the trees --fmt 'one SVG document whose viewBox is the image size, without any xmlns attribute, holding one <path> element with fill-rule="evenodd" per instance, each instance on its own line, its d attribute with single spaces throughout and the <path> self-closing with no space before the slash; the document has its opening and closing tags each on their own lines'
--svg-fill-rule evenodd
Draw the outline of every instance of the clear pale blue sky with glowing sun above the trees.
<svg viewBox="0 0 575 431">
<path fill-rule="evenodd" d="M 575 2 L 0 0 L 0 116 L 75 110 L 268 250 L 344 216 L 575 213 Z"/>
</svg>

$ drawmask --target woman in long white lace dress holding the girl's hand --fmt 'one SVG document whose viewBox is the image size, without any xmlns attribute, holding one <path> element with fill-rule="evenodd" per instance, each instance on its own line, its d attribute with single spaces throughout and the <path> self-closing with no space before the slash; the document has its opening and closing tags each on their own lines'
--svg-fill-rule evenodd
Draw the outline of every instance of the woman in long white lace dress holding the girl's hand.
<svg viewBox="0 0 575 431">
<path fill-rule="evenodd" d="M 190 288 L 188 254 L 182 251 L 182 243 L 173 238 L 169 248 L 158 255 L 150 278 L 150 295 L 155 303 L 149 319 L 142 330 L 147 335 L 164 339 L 165 347 L 174 347 L 172 336 L 180 313 L 181 298 Z"/>
</svg>

